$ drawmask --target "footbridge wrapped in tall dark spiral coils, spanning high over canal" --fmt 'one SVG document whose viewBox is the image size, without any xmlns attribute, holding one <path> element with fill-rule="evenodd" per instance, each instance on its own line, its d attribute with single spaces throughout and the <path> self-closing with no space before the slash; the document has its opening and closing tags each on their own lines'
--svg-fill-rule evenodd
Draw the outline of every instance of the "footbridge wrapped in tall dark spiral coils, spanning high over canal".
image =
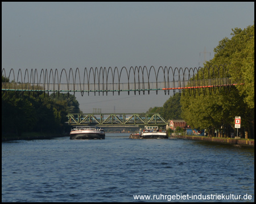
<svg viewBox="0 0 256 204">
<path fill-rule="evenodd" d="M 67 74 L 68 72 L 68 74 Z M 40 74 L 39 74 L 40 73 Z M 144 94 L 150 91 L 164 91 L 165 94 L 170 94 L 170 90 L 189 90 L 189 95 L 204 94 L 209 90 L 209 94 L 216 91 L 228 91 L 231 86 L 236 85 L 230 80 L 228 69 L 226 66 L 210 66 L 210 67 L 197 67 L 195 68 L 180 68 L 177 67 L 162 67 L 155 69 L 151 66 L 150 69 L 144 67 L 122 67 L 118 70 L 117 67 L 97 67 L 93 69 L 84 69 L 80 71 L 79 68 L 69 71 L 62 69 L 59 75 L 57 69 L 37 69 L 28 71 L 22 74 L 19 69 L 18 74 L 15 74 L 11 69 L 9 74 L 6 70 L 2 69 L 2 76 L 10 81 L 2 82 L 2 91 L 28 91 L 28 92 L 80 92 L 83 96 L 84 93 L 94 92 L 94 95 L 104 92 L 126 91 L 128 95 L 130 92 L 141 92 Z"/>
</svg>

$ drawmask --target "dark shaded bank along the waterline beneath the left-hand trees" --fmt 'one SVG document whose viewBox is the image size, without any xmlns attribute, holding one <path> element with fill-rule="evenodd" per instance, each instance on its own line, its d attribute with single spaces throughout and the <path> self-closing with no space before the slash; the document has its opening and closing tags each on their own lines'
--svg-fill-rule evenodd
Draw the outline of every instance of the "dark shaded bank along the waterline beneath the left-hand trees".
<svg viewBox="0 0 256 204">
<path fill-rule="evenodd" d="M 68 135 L 64 134 L 49 134 L 49 133 L 23 133 L 22 136 L 18 137 L 15 135 L 2 135 L 2 142 L 5 141 L 16 141 L 16 140 L 28 140 L 28 139 L 51 139 L 55 137 L 65 137 Z"/>
</svg>

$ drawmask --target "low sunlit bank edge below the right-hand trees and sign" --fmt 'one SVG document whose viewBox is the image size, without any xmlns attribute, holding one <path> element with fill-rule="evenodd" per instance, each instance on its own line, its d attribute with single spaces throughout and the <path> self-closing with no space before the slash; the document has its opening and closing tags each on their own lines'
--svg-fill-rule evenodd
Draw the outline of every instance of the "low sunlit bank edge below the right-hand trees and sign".
<svg viewBox="0 0 256 204">
<path fill-rule="evenodd" d="M 254 147 L 254 139 L 234 139 L 234 138 L 216 138 L 216 137 L 210 138 L 210 137 L 195 136 L 195 135 L 172 135 L 171 137 Z"/>
</svg>

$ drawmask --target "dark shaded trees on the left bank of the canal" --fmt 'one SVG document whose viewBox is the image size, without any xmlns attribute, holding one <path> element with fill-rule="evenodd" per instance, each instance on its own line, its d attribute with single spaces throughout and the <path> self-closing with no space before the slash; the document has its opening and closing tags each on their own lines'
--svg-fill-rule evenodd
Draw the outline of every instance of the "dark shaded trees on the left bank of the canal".
<svg viewBox="0 0 256 204">
<path fill-rule="evenodd" d="M 2 82 L 8 82 L 2 76 Z M 2 135 L 23 132 L 61 134 L 67 113 L 80 113 L 79 102 L 69 94 L 2 91 Z"/>
</svg>

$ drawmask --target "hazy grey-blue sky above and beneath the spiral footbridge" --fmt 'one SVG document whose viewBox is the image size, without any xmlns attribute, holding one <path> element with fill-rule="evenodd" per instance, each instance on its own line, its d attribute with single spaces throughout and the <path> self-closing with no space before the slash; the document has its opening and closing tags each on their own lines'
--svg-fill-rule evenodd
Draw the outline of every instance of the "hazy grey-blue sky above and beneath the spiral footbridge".
<svg viewBox="0 0 256 204">
<path fill-rule="evenodd" d="M 199 67 L 253 24 L 254 2 L 2 2 L 2 69 Z M 143 113 L 171 95 L 75 94 L 84 113 Z"/>
</svg>

